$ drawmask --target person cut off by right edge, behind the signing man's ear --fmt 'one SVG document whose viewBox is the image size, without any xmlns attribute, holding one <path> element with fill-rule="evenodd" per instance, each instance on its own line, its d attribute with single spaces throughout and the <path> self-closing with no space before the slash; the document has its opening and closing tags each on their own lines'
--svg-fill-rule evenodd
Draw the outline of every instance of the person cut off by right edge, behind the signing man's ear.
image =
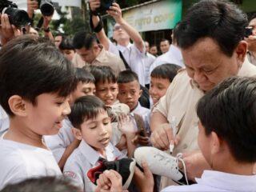
<svg viewBox="0 0 256 192">
<path fill-rule="evenodd" d="M 246 39 L 248 43 L 247 57 L 249 61 L 256 66 L 256 14 L 253 14 L 249 22 L 250 35 Z"/>
</svg>

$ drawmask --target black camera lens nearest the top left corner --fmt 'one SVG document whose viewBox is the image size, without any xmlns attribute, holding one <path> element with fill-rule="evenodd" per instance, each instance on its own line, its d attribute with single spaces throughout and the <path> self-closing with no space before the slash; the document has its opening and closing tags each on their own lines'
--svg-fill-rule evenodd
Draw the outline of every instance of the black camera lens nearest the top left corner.
<svg viewBox="0 0 256 192">
<path fill-rule="evenodd" d="M 4 14 L 8 14 L 10 23 L 14 26 L 24 27 L 30 25 L 30 18 L 25 10 L 8 7 Z"/>
</svg>

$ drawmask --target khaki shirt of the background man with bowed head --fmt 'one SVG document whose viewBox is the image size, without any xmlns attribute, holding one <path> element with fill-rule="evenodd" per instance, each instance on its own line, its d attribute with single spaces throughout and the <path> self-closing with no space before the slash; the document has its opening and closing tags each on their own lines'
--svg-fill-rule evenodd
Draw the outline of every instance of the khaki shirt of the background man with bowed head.
<svg viewBox="0 0 256 192">
<path fill-rule="evenodd" d="M 122 59 L 117 55 L 110 53 L 102 47 L 101 52 L 94 59 L 92 63 L 86 62 L 86 65 L 93 66 L 110 66 L 114 70 L 114 74 L 117 76 L 120 71 L 126 70 L 126 66 L 123 64 Z"/>
</svg>

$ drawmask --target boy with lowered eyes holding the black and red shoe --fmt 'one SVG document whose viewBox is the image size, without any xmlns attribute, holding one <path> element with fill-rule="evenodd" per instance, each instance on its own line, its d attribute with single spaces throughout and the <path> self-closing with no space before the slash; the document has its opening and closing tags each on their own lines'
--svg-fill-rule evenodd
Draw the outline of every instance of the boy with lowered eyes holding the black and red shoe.
<svg viewBox="0 0 256 192">
<path fill-rule="evenodd" d="M 78 98 L 71 108 L 70 122 L 74 137 L 81 140 L 78 149 L 70 155 L 64 166 L 63 174 L 74 178 L 84 191 L 94 191 L 95 185 L 90 181 L 87 172 L 99 166 L 99 158 L 107 161 L 125 158 L 125 156 L 110 143 L 112 127 L 105 104 L 95 96 Z M 134 138 L 134 133 L 127 133 Z M 128 156 L 134 152 L 134 144 L 127 143 Z"/>
</svg>

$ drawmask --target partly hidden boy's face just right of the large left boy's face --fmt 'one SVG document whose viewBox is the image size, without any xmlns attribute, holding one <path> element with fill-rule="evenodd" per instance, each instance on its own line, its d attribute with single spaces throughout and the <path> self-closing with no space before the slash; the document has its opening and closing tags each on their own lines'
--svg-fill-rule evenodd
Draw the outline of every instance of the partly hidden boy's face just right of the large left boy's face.
<svg viewBox="0 0 256 192">
<path fill-rule="evenodd" d="M 77 98 L 86 95 L 95 94 L 95 84 L 94 82 L 78 82 L 77 89 L 70 94 L 70 103 L 74 103 Z"/>
</svg>

